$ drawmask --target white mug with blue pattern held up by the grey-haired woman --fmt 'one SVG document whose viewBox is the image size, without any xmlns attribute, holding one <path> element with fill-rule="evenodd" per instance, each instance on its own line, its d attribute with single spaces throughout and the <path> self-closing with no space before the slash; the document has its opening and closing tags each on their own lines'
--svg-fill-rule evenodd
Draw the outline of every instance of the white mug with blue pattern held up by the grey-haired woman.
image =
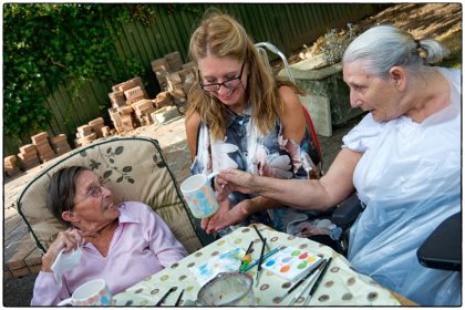
<svg viewBox="0 0 465 310">
<path fill-rule="evenodd" d="M 208 176 L 203 174 L 193 175 L 180 184 L 180 192 L 183 193 L 192 214 L 196 218 L 209 217 L 219 208 L 215 193 L 210 186 L 211 177 L 215 175 L 217 175 L 217 173 L 213 173 Z"/>
</svg>

